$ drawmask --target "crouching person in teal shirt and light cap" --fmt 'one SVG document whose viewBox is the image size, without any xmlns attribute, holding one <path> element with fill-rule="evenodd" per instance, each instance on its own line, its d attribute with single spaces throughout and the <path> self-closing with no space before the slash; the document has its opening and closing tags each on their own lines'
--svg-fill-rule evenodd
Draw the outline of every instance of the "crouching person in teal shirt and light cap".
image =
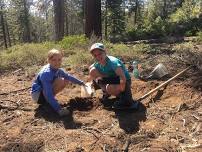
<svg viewBox="0 0 202 152">
<path fill-rule="evenodd" d="M 131 78 L 123 62 L 107 55 L 102 43 L 93 44 L 90 53 L 96 60 L 89 67 L 90 77 L 102 89 L 102 101 L 114 95 L 119 99 L 114 103 L 115 108 L 137 106 L 131 94 Z"/>
</svg>

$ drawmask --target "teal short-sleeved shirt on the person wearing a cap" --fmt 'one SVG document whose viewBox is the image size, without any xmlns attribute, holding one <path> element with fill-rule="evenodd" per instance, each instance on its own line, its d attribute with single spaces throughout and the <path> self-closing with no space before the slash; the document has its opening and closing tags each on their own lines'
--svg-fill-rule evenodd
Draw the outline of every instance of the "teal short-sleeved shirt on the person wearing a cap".
<svg viewBox="0 0 202 152">
<path fill-rule="evenodd" d="M 101 74 L 107 75 L 108 77 L 116 77 L 117 74 L 115 73 L 115 71 L 118 67 L 121 67 L 125 74 L 126 80 L 130 80 L 130 74 L 128 73 L 128 70 L 126 69 L 125 65 L 121 60 L 113 56 L 107 56 L 106 60 L 107 62 L 104 66 L 98 62 L 94 63 L 94 67 Z"/>
</svg>

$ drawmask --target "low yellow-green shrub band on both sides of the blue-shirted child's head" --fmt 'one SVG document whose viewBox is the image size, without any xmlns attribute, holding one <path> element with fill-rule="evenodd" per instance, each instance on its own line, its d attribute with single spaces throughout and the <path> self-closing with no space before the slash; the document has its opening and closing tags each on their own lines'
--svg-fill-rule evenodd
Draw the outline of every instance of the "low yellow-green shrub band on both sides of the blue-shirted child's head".
<svg viewBox="0 0 202 152">
<path fill-rule="evenodd" d="M 61 47 L 52 42 L 45 42 L 41 44 L 15 45 L 3 50 L 0 52 L 0 71 L 42 66 L 46 63 L 47 53 L 52 48 L 60 49 Z M 69 62 L 73 64 L 72 66 L 88 64 L 92 59 L 91 54 L 85 49 L 65 49 L 64 54 L 64 64 Z"/>
</svg>

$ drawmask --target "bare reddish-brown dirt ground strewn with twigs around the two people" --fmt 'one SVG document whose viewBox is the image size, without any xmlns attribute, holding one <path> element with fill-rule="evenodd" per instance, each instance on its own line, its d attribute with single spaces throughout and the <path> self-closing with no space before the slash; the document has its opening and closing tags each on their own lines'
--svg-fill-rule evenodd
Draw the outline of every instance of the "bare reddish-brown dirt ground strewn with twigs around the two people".
<svg viewBox="0 0 202 152">
<path fill-rule="evenodd" d="M 172 75 L 183 68 L 168 67 Z M 137 111 L 104 107 L 99 92 L 82 99 L 80 87 L 69 85 L 57 96 L 72 111 L 65 118 L 31 100 L 33 78 L 23 70 L 0 76 L 0 151 L 202 151 L 202 77 L 194 69 L 142 100 Z M 134 98 L 162 82 L 132 78 Z"/>
</svg>

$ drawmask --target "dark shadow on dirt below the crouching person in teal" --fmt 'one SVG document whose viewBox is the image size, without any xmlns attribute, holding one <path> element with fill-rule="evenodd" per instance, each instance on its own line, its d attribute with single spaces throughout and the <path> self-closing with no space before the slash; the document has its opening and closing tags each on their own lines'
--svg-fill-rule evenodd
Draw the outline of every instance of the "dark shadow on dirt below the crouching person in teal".
<svg viewBox="0 0 202 152">
<path fill-rule="evenodd" d="M 119 126 L 126 133 L 136 133 L 140 127 L 140 121 L 146 120 L 146 107 L 139 103 L 137 110 L 115 110 Z"/>
</svg>

